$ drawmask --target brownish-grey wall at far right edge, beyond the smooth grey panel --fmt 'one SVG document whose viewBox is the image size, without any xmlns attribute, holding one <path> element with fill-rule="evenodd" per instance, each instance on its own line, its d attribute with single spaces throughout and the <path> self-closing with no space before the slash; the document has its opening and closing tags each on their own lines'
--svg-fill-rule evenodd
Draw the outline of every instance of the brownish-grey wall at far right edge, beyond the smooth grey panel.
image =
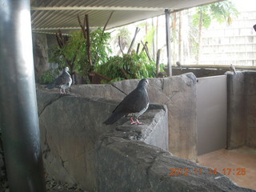
<svg viewBox="0 0 256 192">
<path fill-rule="evenodd" d="M 256 72 L 227 74 L 228 149 L 256 147 Z"/>
</svg>

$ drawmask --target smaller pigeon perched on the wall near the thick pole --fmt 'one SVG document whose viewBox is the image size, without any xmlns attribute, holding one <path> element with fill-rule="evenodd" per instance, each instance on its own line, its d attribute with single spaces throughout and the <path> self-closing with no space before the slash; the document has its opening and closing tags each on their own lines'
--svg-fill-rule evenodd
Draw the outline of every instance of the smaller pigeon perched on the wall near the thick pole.
<svg viewBox="0 0 256 192">
<path fill-rule="evenodd" d="M 61 92 L 61 94 L 66 94 L 66 88 L 70 87 L 72 84 L 72 78 L 68 71 L 69 68 L 65 67 L 62 74 L 58 76 L 58 78 L 55 78 L 53 82 L 50 82 L 50 84 L 46 86 L 46 88 L 53 89 L 54 87 L 59 87 L 59 91 Z"/>
</svg>

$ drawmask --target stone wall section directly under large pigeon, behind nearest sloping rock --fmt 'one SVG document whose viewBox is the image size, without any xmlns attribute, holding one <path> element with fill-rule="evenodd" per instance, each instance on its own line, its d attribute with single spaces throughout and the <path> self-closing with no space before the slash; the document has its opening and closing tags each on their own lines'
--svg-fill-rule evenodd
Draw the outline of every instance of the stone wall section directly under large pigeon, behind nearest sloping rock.
<svg viewBox="0 0 256 192">
<path fill-rule="evenodd" d="M 125 134 L 126 139 L 168 148 L 166 106 L 150 105 L 142 115 L 142 126 L 130 126 L 126 119 L 106 126 L 102 122 L 110 116 L 118 101 L 63 96 L 50 90 L 37 90 L 37 97 L 42 157 L 46 172 L 56 180 L 78 183 L 82 189 L 94 191 L 95 142 L 102 134 L 113 132 L 117 125 L 122 125 L 117 132 Z"/>
</svg>

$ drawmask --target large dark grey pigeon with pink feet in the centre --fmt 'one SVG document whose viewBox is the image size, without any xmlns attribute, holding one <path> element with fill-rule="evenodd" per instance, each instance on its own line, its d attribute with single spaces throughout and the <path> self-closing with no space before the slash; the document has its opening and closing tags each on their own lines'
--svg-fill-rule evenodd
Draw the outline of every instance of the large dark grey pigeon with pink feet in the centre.
<svg viewBox="0 0 256 192">
<path fill-rule="evenodd" d="M 128 117 L 130 118 L 130 124 L 141 125 L 142 122 L 138 121 L 138 117 L 144 114 L 150 104 L 146 91 L 148 85 L 149 81 L 146 78 L 138 82 L 136 89 L 126 95 L 122 102 L 113 110 L 110 118 L 106 119 L 103 123 L 111 125 L 120 118 Z M 136 118 L 136 121 L 133 118 Z"/>
</svg>

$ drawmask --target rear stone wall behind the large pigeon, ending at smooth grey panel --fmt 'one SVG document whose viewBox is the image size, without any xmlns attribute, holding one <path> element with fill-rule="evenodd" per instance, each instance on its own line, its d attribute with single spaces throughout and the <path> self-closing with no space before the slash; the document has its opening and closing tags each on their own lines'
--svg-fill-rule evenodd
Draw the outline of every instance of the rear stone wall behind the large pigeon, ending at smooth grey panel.
<svg viewBox="0 0 256 192">
<path fill-rule="evenodd" d="M 168 109 L 169 151 L 181 158 L 197 160 L 196 78 L 182 74 L 170 78 L 150 78 L 150 102 L 164 104 Z M 138 79 L 107 85 L 71 86 L 70 92 L 82 97 L 124 98 L 138 85 Z M 116 89 L 118 87 L 118 89 Z"/>
</svg>

